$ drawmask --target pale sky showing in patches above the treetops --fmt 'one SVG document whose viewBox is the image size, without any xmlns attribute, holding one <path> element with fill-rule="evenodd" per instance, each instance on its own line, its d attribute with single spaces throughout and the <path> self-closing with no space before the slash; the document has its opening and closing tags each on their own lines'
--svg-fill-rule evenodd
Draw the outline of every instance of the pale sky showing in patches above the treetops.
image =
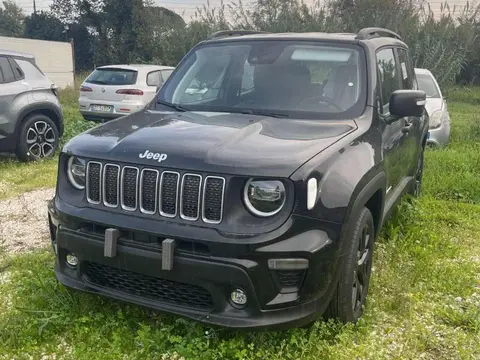
<svg viewBox="0 0 480 360">
<path fill-rule="evenodd" d="M 33 12 L 33 0 L 14 0 L 18 5 L 20 5 L 26 14 Z M 37 10 L 48 10 L 52 0 L 35 0 L 37 4 Z M 182 15 L 186 21 L 190 20 L 195 14 L 195 10 L 198 7 L 202 7 L 207 4 L 206 0 L 154 0 L 155 3 L 159 6 L 166 7 L 170 10 L 175 11 L 179 15 Z M 243 4 L 248 8 L 249 4 L 253 0 L 243 0 Z M 304 0 L 306 4 L 312 4 L 314 0 Z M 480 1 L 480 0 L 479 0 Z M 231 2 L 230 0 L 224 0 L 225 4 Z M 436 13 L 440 11 L 441 4 L 444 3 L 444 0 L 430 0 L 428 1 L 432 10 Z M 468 0 L 447 0 L 448 4 L 452 8 L 456 6 L 465 6 L 468 3 Z M 475 1 L 474 1 L 475 2 Z M 478 2 L 478 1 L 477 1 Z M 210 7 L 218 7 L 221 4 L 221 0 L 210 0 Z M 472 3 L 472 1 L 470 1 Z"/>
</svg>

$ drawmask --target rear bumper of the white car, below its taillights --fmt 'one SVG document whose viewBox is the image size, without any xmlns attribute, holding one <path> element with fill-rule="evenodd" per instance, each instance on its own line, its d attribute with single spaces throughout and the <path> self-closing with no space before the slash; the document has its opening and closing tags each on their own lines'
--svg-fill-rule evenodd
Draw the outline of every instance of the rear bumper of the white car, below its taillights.
<svg viewBox="0 0 480 360">
<path fill-rule="evenodd" d="M 82 99 L 80 97 L 79 110 L 85 120 L 90 121 L 105 121 L 115 119 L 120 116 L 132 114 L 140 111 L 145 107 L 145 103 L 139 101 L 113 102 L 104 100 Z M 101 106 L 103 109 L 97 109 Z"/>
</svg>

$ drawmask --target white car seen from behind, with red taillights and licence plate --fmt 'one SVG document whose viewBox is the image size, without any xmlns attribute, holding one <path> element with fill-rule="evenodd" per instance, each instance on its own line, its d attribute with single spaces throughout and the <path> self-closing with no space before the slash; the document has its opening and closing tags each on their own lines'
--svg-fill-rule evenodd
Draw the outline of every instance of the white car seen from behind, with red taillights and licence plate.
<svg viewBox="0 0 480 360">
<path fill-rule="evenodd" d="M 142 110 L 173 70 L 157 65 L 99 67 L 80 87 L 80 112 L 86 120 L 105 121 Z"/>
</svg>

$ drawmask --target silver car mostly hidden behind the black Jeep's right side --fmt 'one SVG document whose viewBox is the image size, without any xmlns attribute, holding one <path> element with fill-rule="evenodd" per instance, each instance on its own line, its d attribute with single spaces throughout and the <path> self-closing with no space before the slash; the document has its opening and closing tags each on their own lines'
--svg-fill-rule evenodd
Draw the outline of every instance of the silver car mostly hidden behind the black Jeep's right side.
<svg viewBox="0 0 480 360">
<path fill-rule="evenodd" d="M 450 115 L 437 79 L 427 69 L 415 68 L 418 87 L 427 94 L 425 108 L 430 117 L 427 144 L 432 147 L 446 146 L 450 140 Z"/>
</svg>

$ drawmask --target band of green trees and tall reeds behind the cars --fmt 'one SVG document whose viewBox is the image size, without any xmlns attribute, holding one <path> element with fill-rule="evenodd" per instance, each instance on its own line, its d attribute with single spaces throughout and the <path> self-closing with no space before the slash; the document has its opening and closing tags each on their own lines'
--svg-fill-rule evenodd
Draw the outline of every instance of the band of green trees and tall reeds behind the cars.
<svg viewBox="0 0 480 360">
<path fill-rule="evenodd" d="M 187 24 L 153 0 L 54 0 L 51 11 L 25 19 L 24 35 L 75 41 L 76 68 L 111 63 L 176 65 L 185 53 L 220 29 L 270 32 L 357 32 L 379 26 L 399 33 L 417 67 L 426 67 L 441 84 L 480 81 L 479 8 L 445 3 L 440 17 L 425 0 L 330 0 L 307 6 L 302 0 L 242 0 L 197 9 Z M 23 15 L 9 0 L 0 9 L 0 34 L 23 34 Z M 227 10 L 231 17 L 227 17 Z"/>
</svg>

